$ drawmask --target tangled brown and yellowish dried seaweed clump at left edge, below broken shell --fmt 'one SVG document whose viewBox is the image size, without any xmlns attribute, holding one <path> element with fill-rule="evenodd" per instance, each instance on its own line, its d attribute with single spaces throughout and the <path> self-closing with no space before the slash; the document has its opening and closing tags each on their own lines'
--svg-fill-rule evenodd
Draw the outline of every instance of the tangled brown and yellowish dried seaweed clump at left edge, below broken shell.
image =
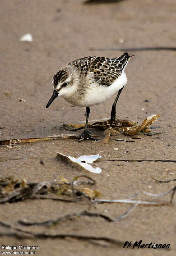
<svg viewBox="0 0 176 256">
<path fill-rule="evenodd" d="M 84 181 L 80 180 L 80 178 L 84 178 Z M 88 187 L 85 187 L 85 185 L 92 186 L 94 184 L 95 184 L 95 181 L 92 178 L 84 175 L 75 177 L 71 182 L 62 178 L 62 183 L 58 183 L 58 182 L 27 183 L 26 180 L 24 179 L 21 182 L 19 182 L 18 180 L 14 180 L 13 177 L 3 177 L 3 178 L 0 178 L 0 203 L 18 202 L 18 201 L 25 200 L 27 198 L 31 198 L 31 199 L 40 198 L 40 199 L 50 199 L 50 200 L 58 200 L 58 201 L 64 201 L 64 202 L 77 202 L 75 198 L 72 200 L 72 199 L 48 196 L 51 194 L 55 194 L 57 196 L 65 195 L 69 197 L 71 197 L 71 195 L 75 197 L 76 195 L 77 198 L 80 198 L 80 196 L 83 195 L 88 199 L 92 199 L 94 197 L 101 195 L 101 193 L 97 190 L 89 189 Z M 84 186 L 84 187 L 78 187 L 78 186 Z M 89 193 L 88 193 L 88 189 L 89 189 Z M 47 195 L 47 197 L 43 197 L 43 195 Z"/>
</svg>

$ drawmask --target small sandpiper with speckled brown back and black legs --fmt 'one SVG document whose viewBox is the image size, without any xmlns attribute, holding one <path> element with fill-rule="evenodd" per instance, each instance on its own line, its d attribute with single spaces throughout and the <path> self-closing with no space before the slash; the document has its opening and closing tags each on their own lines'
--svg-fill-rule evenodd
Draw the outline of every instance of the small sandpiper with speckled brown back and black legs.
<svg viewBox="0 0 176 256">
<path fill-rule="evenodd" d="M 127 83 L 124 69 L 130 57 L 128 53 L 113 59 L 84 57 L 70 62 L 66 67 L 55 73 L 52 79 L 54 92 L 46 108 L 58 95 L 74 106 L 86 107 L 86 123 L 84 132 L 79 136 L 79 142 L 84 139 L 97 140 L 87 130 L 89 107 L 106 101 L 118 91 L 111 110 L 110 125 L 113 124 L 116 116 L 117 100 Z"/>
</svg>

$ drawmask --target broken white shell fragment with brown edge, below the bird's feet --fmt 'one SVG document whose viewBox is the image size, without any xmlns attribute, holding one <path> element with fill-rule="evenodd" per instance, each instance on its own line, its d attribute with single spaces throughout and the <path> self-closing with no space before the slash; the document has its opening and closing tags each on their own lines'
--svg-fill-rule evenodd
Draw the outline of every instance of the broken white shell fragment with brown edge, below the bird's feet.
<svg viewBox="0 0 176 256">
<path fill-rule="evenodd" d="M 98 173 L 101 173 L 102 171 L 102 169 L 100 169 L 99 167 L 93 168 L 90 164 L 87 164 L 87 162 L 92 163 L 93 161 L 96 161 L 98 158 L 101 158 L 101 156 L 99 155 L 80 156 L 78 158 L 75 158 L 75 157 L 66 156 L 66 155 L 63 155 L 62 153 L 57 152 L 56 157 L 59 160 L 64 161 L 65 163 L 71 163 L 71 164 L 75 163 L 76 167 L 81 167 L 93 173 L 98 174 Z M 83 163 L 82 161 L 85 161 L 85 163 Z"/>
</svg>

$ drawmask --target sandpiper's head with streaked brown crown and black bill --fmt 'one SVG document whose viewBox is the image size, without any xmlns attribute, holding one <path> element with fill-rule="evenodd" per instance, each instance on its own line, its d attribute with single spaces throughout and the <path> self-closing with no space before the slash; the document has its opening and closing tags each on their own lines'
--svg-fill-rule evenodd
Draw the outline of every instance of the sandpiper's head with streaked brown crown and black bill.
<svg viewBox="0 0 176 256">
<path fill-rule="evenodd" d="M 72 67 L 67 66 L 57 71 L 52 79 L 53 95 L 48 101 L 46 108 L 50 106 L 58 95 L 69 97 L 75 91 L 77 80 L 77 72 Z"/>
</svg>

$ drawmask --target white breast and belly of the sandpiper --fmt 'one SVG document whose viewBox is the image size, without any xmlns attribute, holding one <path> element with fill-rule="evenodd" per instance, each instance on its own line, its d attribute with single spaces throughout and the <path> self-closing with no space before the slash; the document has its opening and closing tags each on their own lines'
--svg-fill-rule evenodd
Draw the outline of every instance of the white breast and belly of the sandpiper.
<svg viewBox="0 0 176 256">
<path fill-rule="evenodd" d="M 72 105 L 80 107 L 90 107 L 98 105 L 109 99 L 114 93 L 118 92 L 127 83 L 127 77 L 123 71 L 121 76 L 117 78 L 110 86 L 101 86 L 96 83 L 85 88 L 83 97 L 76 97 L 76 92 L 73 97 L 66 98 L 62 96 L 67 102 Z"/>
</svg>

